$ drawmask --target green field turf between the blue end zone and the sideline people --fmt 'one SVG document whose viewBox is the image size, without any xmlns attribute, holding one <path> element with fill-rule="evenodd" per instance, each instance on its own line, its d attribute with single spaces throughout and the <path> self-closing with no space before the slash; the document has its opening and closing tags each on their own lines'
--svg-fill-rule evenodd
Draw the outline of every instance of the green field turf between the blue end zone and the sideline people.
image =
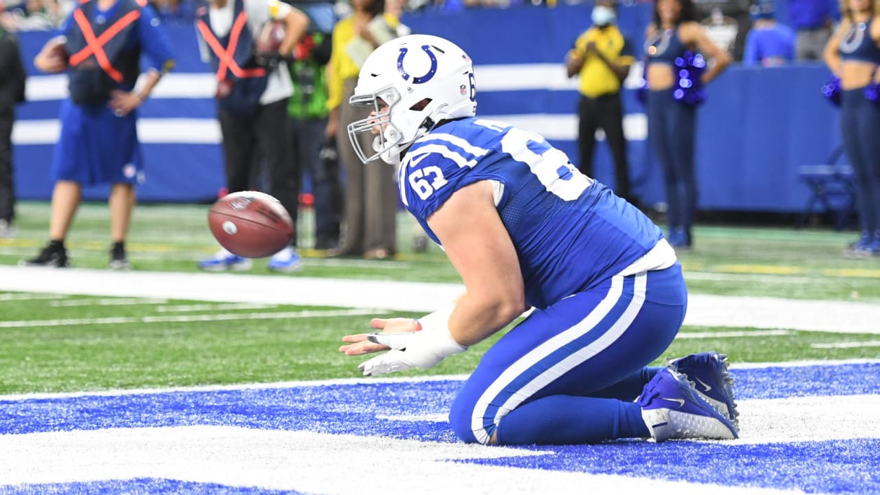
<svg viewBox="0 0 880 495">
<path fill-rule="evenodd" d="M 207 205 L 139 207 L 128 243 L 135 270 L 198 271 L 195 263 L 216 249 L 206 215 Z M 47 220 L 47 204 L 21 203 L 18 238 L 0 240 L 0 264 L 34 255 L 46 240 Z M 106 224 L 105 205 L 86 203 L 79 211 L 69 238 L 74 266 L 106 266 Z M 298 229 L 306 256 L 302 271 L 273 274 L 257 260 L 251 273 L 460 282 L 439 248 L 412 252 L 414 224 L 403 214 L 401 253 L 391 261 L 320 257 L 308 248 L 311 224 L 311 212 L 304 211 Z M 858 301 L 877 305 L 880 326 L 880 259 L 843 258 L 842 249 L 853 233 L 701 226 L 695 237 L 695 249 L 679 255 L 694 294 Z M 0 292 L 0 394 L 358 375 L 360 360 L 336 349 L 342 335 L 365 330 L 370 313 L 347 310 L 345 300 L 329 307 L 300 307 L 198 299 L 198 294 L 180 300 Z M 394 314 L 413 315 L 385 315 Z M 434 369 L 409 374 L 469 373 L 492 342 Z M 734 363 L 880 358 L 880 337 L 686 326 L 667 354 L 708 349 L 727 352 Z"/>
</svg>

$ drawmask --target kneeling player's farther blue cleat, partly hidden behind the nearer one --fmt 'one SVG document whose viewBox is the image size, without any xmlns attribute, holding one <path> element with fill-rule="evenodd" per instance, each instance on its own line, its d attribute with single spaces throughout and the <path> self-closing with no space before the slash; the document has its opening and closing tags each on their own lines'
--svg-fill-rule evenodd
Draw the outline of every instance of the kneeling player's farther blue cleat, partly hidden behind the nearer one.
<svg viewBox="0 0 880 495">
<path fill-rule="evenodd" d="M 737 403 L 733 402 L 733 378 L 728 373 L 727 356 L 715 351 L 690 354 L 670 359 L 666 366 L 682 373 L 693 382 L 693 388 L 715 410 L 738 425 Z"/>
</svg>

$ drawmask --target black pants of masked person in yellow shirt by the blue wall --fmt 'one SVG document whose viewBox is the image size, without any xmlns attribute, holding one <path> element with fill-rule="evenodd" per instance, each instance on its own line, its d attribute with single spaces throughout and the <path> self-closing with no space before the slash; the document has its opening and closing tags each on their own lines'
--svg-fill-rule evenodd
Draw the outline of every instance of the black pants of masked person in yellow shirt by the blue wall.
<svg viewBox="0 0 880 495">
<path fill-rule="evenodd" d="M 604 94 L 598 98 L 581 96 L 577 104 L 580 118 L 577 144 L 581 154 L 578 169 L 593 177 L 593 149 L 596 147 L 596 129 L 605 131 L 605 142 L 611 146 L 614 157 L 614 178 L 617 186 L 614 194 L 630 203 L 634 198 L 629 191 L 629 166 L 627 165 L 627 138 L 623 136 L 623 105 L 620 92 Z"/>
</svg>

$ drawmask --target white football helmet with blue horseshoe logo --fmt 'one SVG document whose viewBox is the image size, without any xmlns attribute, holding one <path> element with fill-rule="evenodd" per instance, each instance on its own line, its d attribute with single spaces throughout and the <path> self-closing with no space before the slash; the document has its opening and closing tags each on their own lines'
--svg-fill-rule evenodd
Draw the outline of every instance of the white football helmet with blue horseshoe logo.
<svg viewBox="0 0 880 495">
<path fill-rule="evenodd" d="M 428 34 L 401 36 L 363 63 L 349 102 L 373 107 L 373 114 L 348 124 L 348 138 L 363 163 L 381 157 L 396 164 L 401 151 L 437 122 L 475 115 L 476 93 L 471 57 L 455 43 Z M 378 100 L 387 105 L 382 112 Z M 357 136 L 377 126 L 385 130 L 368 154 Z"/>
</svg>

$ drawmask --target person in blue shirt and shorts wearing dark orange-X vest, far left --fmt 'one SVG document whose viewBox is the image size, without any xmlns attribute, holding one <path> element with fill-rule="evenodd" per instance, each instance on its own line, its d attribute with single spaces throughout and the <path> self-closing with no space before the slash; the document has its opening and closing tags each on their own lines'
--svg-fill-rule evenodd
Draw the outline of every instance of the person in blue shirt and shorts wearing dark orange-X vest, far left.
<svg viewBox="0 0 880 495">
<path fill-rule="evenodd" d="M 173 67 L 171 41 L 146 0 L 85 0 L 70 13 L 61 34 L 48 41 L 33 60 L 43 72 L 70 67 L 70 97 L 62 102 L 61 137 L 51 168 L 55 188 L 49 243 L 21 264 L 69 266 L 64 238 L 82 188 L 109 183 L 114 242 L 110 268 L 128 269 L 125 237 L 135 204 L 135 184 L 143 181 L 137 107 Z M 149 72 L 136 89 L 142 53 L 147 55 Z"/>
</svg>

